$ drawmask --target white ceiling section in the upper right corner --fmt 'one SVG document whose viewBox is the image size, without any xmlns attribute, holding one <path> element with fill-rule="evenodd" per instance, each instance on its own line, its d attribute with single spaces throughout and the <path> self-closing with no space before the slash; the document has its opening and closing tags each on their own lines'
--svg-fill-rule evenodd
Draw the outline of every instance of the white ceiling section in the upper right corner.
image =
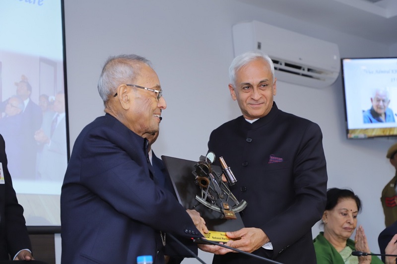
<svg viewBox="0 0 397 264">
<path fill-rule="evenodd" d="M 384 44 L 397 44 L 397 0 L 240 0 Z"/>
</svg>

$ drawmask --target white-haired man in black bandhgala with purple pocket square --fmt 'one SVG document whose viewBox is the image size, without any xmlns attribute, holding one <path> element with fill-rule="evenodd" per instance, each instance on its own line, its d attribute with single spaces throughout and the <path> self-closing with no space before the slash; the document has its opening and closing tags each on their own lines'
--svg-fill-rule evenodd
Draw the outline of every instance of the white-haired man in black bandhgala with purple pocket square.
<svg viewBox="0 0 397 264">
<path fill-rule="evenodd" d="M 230 187 L 248 206 L 245 228 L 227 232 L 228 246 L 281 263 L 312 264 L 312 226 L 326 203 L 327 169 L 319 126 L 282 112 L 273 101 L 276 78 L 271 59 L 249 52 L 234 59 L 229 90 L 243 116 L 215 129 L 208 150 L 222 156 L 238 179 Z M 264 263 L 218 246 L 213 263 Z"/>
</svg>

